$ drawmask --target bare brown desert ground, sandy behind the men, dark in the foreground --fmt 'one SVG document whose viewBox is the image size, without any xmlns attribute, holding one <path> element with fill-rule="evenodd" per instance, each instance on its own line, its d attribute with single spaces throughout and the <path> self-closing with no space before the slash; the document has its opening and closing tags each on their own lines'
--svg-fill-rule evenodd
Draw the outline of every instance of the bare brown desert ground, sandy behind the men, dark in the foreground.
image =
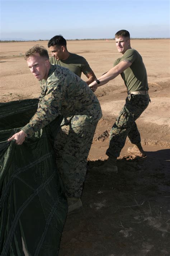
<svg viewBox="0 0 170 256">
<path fill-rule="evenodd" d="M 23 58 L 37 43 L 47 47 L 47 41 L 0 44 L 0 102 L 39 96 Z M 103 117 L 89 154 L 84 207 L 67 217 L 60 256 L 170 255 L 169 39 L 131 40 L 131 47 L 143 57 L 150 88 L 151 103 L 137 120 L 147 157 L 129 155 L 127 139 L 117 175 L 92 170 L 107 159 L 109 131 L 127 95 L 119 75 L 95 93 Z M 68 41 L 67 48 L 85 57 L 97 77 L 120 57 L 113 40 Z"/>
</svg>

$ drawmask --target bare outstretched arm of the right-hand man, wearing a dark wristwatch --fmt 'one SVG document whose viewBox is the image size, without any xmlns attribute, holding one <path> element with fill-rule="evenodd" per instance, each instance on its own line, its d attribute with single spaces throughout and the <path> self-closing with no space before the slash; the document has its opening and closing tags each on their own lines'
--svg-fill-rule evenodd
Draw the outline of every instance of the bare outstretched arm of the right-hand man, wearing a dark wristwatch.
<svg viewBox="0 0 170 256">
<path fill-rule="evenodd" d="M 98 80 L 100 81 L 100 84 L 97 84 L 96 81 L 93 81 L 91 84 L 89 84 L 89 87 L 92 89 L 93 92 L 95 92 L 99 86 L 108 83 L 108 81 L 117 77 L 119 74 L 121 74 L 124 70 L 126 70 L 131 65 L 132 65 L 131 61 L 128 61 L 128 60 L 121 61 L 118 65 L 112 67 L 112 69 L 110 69 L 107 73 L 103 74 L 98 78 Z"/>
</svg>

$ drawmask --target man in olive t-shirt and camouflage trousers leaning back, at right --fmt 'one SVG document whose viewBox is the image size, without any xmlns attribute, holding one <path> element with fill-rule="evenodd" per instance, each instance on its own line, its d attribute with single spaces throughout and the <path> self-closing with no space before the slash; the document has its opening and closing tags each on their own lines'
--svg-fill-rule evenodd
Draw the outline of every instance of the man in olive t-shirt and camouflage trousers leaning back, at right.
<svg viewBox="0 0 170 256">
<path fill-rule="evenodd" d="M 129 153 L 145 156 L 142 149 L 141 137 L 135 120 L 147 108 L 150 98 L 148 95 L 147 73 L 141 55 L 131 48 L 130 34 L 127 30 L 120 30 L 115 34 L 115 43 L 118 52 L 123 54 L 114 62 L 114 67 L 100 76 L 89 86 L 96 91 L 98 86 L 108 83 L 121 74 L 127 87 L 128 97 L 119 116 L 110 131 L 109 148 L 106 154 L 109 156 L 107 162 L 101 167 L 104 172 L 118 172 L 117 157 L 126 142 L 127 136 L 134 144 L 129 148 Z"/>
</svg>

